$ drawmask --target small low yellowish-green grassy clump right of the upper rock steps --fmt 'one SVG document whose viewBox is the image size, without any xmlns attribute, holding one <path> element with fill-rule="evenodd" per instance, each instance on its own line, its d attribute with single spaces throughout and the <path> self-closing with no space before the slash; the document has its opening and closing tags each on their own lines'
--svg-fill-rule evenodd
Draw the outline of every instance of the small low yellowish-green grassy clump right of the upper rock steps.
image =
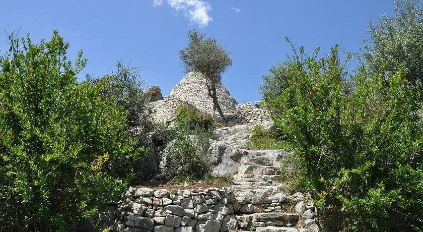
<svg viewBox="0 0 423 232">
<path fill-rule="evenodd" d="M 263 126 L 255 126 L 250 137 L 248 147 L 257 150 L 288 149 L 289 143 L 276 130 L 264 130 Z"/>
</svg>

